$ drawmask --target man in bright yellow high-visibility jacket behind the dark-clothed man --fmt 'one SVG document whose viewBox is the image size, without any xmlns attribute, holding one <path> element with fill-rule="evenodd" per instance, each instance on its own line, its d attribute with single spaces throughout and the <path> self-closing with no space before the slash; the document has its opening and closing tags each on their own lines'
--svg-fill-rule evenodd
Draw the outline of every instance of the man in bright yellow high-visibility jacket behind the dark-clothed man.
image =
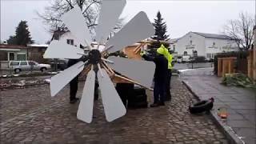
<svg viewBox="0 0 256 144">
<path fill-rule="evenodd" d="M 171 100 L 171 95 L 170 95 L 170 80 L 172 76 L 172 69 L 173 69 L 173 54 L 170 54 L 169 50 L 164 46 L 163 44 L 159 47 L 164 51 L 164 57 L 168 60 L 168 74 L 166 78 L 166 101 Z"/>
</svg>

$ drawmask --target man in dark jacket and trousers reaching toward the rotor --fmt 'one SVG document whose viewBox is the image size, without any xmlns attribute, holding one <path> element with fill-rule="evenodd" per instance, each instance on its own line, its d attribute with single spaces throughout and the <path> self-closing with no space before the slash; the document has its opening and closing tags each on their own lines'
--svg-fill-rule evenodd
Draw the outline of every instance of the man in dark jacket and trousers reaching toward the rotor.
<svg viewBox="0 0 256 144">
<path fill-rule="evenodd" d="M 145 52 L 142 52 L 142 58 L 147 61 L 153 61 L 155 63 L 154 71 L 154 103 L 150 107 L 164 106 L 165 103 L 165 89 L 166 89 L 166 77 L 168 72 L 168 61 L 164 57 L 164 51 L 162 49 L 157 50 L 155 57 L 148 56 Z"/>
</svg>

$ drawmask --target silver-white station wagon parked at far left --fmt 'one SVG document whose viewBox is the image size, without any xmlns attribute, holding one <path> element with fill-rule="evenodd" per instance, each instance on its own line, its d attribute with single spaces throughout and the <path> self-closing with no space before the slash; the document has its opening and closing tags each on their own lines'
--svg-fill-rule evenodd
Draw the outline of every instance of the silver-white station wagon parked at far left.
<svg viewBox="0 0 256 144">
<path fill-rule="evenodd" d="M 49 64 L 39 64 L 34 61 L 10 61 L 9 67 L 11 70 L 14 70 L 15 73 L 26 70 L 41 70 L 42 72 L 50 70 Z"/>
</svg>

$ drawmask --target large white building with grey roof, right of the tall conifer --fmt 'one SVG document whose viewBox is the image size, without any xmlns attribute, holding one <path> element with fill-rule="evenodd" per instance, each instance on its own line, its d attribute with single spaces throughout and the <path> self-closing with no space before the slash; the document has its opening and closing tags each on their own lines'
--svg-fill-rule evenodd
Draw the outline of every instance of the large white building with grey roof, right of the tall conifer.
<svg viewBox="0 0 256 144">
<path fill-rule="evenodd" d="M 178 55 L 197 54 L 206 58 L 214 58 L 214 54 L 236 51 L 238 46 L 233 39 L 226 35 L 190 31 L 182 38 L 171 39 L 170 49 L 174 50 Z"/>
</svg>

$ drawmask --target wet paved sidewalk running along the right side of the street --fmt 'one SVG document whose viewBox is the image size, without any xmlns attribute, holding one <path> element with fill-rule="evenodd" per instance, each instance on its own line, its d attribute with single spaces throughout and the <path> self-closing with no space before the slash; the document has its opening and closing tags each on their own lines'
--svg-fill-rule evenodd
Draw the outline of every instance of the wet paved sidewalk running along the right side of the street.
<svg viewBox="0 0 256 144">
<path fill-rule="evenodd" d="M 256 91 L 229 87 L 220 84 L 221 78 L 212 74 L 212 68 L 182 71 L 182 81 L 200 99 L 214 98 L 214 117 L 226 127 L 230 127 L 229 134 L 236 136 L 236 142 L 256 143 Z M 225 106 L 228 109 L 226 121 L 217 116 L 218 107 Z M 234 132 L 232 132 L 234 130 Z M 231 134 L 233 133 L 233 134 Z M 239 140 L 239 138 L 242 140 Z"/>
</svg>

